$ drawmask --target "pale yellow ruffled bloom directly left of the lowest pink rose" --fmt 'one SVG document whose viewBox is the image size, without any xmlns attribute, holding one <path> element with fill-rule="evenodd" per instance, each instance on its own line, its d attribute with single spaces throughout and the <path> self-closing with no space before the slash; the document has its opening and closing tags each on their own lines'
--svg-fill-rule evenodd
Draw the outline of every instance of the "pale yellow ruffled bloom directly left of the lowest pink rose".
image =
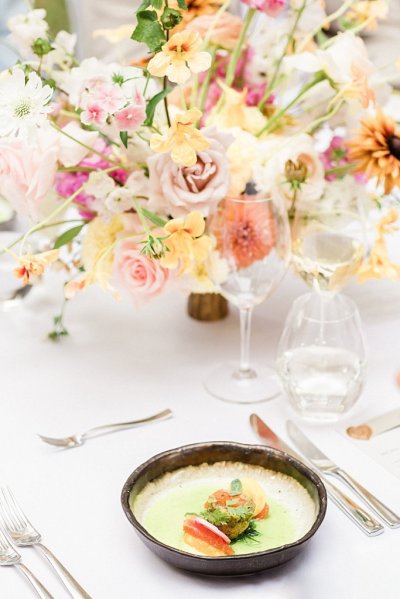
<svg viewBox="0 0 400 599">
<path fill-rule="evenodd" d="M 67 284 L 66 294 L 74 294 L 92 283 L 113 291 L 109 284 L 114 262 L 113 249 L 123 230 L 123 221 L 119 215 L 113 216 L 108 222 L 101 218 L 92 220 L 86 228 L 82 245 L 82 264 L 86 274 L 79 281 Z"/>
</svg>

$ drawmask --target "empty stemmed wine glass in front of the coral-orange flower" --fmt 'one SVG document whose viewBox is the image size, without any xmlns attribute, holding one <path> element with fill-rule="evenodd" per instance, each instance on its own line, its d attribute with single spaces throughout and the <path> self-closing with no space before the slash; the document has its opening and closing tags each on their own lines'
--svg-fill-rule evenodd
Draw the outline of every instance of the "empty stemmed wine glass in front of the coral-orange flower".
<svg viewBox="0 0 400 599">
<path fill-rule="evenodd" d="M 289 263 L 285 207 L 278 197 L 256 193 L 227 198 L 209 219 L 209 233 L 225 270 L 222 280 L 214 283 L 240 310 L 241 350 L 240 361 L 218 366 L 205 387 L 218 399 L 233 403 L 271 399 L 279 393 L 275 370 L 250 363 L 251 317 L 254 306 L 272 293 Z"/>
</svg>

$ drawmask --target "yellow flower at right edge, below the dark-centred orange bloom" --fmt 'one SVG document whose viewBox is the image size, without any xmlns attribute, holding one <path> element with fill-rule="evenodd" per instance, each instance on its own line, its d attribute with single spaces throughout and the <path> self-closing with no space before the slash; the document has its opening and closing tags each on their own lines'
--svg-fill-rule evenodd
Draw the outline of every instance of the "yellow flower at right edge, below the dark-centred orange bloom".
<svg viewBox="0 0 400 599">
<path fill-rule="evenodd" d="M 385 242 L 385 235 L 397 230 L 392 225 L 398 220 L 399 215 L 395 208 L 389 212 L 376 225 L 376 240 L 368 260 L 360 267 L 357 273 L 359 283 L 369 279 L 399 279 L 400 266 L 390 261 Z"/>
</svg>

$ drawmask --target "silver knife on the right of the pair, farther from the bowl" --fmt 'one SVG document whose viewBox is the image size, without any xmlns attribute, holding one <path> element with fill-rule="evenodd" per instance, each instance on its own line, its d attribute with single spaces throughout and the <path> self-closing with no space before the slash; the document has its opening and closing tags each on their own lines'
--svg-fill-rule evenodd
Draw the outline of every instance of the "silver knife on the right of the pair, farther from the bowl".
<svg viewBox="0 0 400 599">
<path fill-rule="evenodd" d="M 391 528 L 400 526 L 400 516 L 395 514 L 390 508 L 375 497 L 375 495 L 354 480 L 354 478 L 345 470 L 339 468 L 339 466 L 332 462 L 328 456 L 306 437 L 294 422 L 288 420 L 286 425 L 290 439 L 296 445 L 297 449 L 299 449 L 316 468 L 321 470 L 324 474 L 334 476 L 336 479 L 345 483 L 349 489 L 369 505 L 369 507 L 373 509 L 388 526 Z"/>
</svg>

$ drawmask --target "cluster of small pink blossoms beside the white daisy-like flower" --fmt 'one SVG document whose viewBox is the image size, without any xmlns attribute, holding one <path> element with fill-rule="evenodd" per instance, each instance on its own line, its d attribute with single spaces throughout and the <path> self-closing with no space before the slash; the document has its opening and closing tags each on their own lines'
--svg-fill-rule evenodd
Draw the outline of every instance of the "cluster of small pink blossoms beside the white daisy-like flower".
<svg viewBox="0 0 400 599">
<path fill-rule="evenodd" d="M 107 146 L 107 144 L 101 139 L 98 139 L 95 142 L 93 149 L 105 156 L 108 156 L 111 153 L 111 148 Z M 91 154 L 82 160 L 77 168 L 87 167 L 97 170 L 104 170 L 110 166 L 111 164 L 98 154 Z M 129 173 L 124 169 L 115 169 L 114 171 L 110 172 L 109 175 L 114 179 L 114 181 L 124 185 L 128 179 Z M 80 187 L 82 187 L 88 178 L 88 171 L 77 170 L 74 172 L 58 172 L 55 177 L 56 191 L 61 197 L 68 198 Z M 95 198 L 93 196 L 88 195 L 84 191 L 78 194 L 74 200 L 76 204 L 82 206 L 79 209 L 79 214 L 85 220 L 92 220 L 96 216 L 96 211 L 92 206 L 94 200 Z"/>
</svg>

